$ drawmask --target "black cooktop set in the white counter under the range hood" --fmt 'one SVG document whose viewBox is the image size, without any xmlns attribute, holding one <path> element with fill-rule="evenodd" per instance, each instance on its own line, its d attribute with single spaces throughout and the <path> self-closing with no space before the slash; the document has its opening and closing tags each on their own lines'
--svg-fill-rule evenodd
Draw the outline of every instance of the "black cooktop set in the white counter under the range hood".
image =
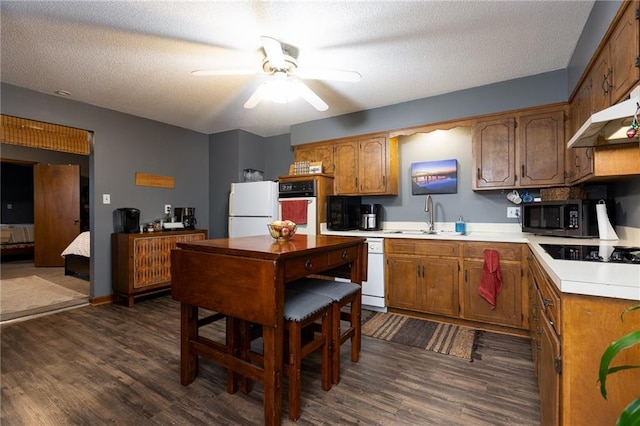
<svg viewBox="0 0 640 426">
<path fill-rule="evenodd" d="M 640 265 L 640 247 L 540 244 L 554 259 Z"/>
</svg>

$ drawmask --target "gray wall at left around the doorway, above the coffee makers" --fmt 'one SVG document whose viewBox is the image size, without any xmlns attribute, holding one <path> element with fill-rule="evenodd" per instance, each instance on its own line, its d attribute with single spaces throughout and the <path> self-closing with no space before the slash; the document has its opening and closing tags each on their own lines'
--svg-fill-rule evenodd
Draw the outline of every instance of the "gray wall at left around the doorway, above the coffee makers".
<svg viewBox="0 0 640 426">
<path fill-rule="evenodd" d="M 206 135 L 7 84 L 2 84 L 1 102 L 3 114 L 94 132 L 89 173 L 92 297 L 111 294 L 114 209 L 137 207 L 144 222 L 161 218 L 165 204 L 195 207 L 198 220 L 209 222 Z M 136 186 L 136 172 L 173 176 L 175 188 Z M 110 205 L 102 204 L 102 194 L 111 194 Z"/>
</svg>

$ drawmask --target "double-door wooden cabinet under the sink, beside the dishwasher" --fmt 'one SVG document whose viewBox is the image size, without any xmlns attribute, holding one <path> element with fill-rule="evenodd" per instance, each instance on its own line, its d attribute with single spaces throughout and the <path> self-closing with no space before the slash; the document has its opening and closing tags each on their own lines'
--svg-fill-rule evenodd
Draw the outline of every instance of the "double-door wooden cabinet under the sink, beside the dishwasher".
<svg viewBox="0 0 640 426">
<path fill-rule="evenodd" d="M 386 239 L 387 305 L 435 315 L 457 316 L 458 244 Z"/>
</svg>

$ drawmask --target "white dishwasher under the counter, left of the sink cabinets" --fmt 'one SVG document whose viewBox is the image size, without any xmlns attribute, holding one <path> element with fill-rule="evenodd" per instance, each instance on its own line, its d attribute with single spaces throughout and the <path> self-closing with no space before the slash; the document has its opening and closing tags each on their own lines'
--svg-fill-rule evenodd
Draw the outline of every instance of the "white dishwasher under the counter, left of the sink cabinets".
<svg viewBox="0 0 640 426">
<path fill-rule="evenodd" d="M 362 283 L 363 308 L 387 312 L 384 298 L 384 238 L 367 238 L 367 281 Z"/>
</svg>

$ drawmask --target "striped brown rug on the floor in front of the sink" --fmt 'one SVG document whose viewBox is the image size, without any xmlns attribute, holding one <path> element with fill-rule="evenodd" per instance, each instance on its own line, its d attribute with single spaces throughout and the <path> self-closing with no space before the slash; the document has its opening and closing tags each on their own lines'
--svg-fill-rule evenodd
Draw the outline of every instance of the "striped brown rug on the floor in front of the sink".
<svg viewBox="0 0 640 426">
<path fill-rule="evenodd" d="M 405 315 L 377 312 L 362 325 L 362 334 L 457 358 L 480 359 L 480 333 L 471 328 Z"/>
</svg>

